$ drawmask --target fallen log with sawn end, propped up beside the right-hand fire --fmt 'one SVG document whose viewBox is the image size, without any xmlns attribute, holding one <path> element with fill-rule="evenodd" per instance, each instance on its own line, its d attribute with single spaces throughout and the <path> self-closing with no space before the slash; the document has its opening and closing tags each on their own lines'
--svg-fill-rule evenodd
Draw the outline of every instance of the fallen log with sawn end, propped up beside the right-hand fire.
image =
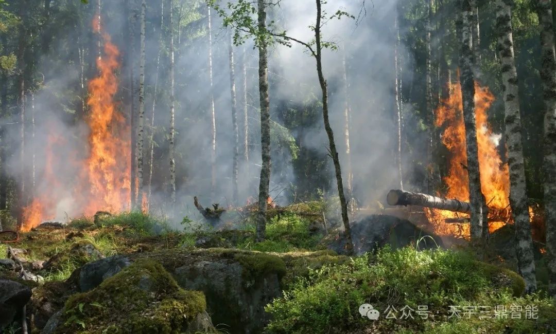
<svg viewBox="0 0 556 334">
<path fill-rule="evenodd" d="M 419 205 L 426 208 L 449 210 L 455 212 L 469 213 L 471 205 L 456 199 L 445 199 L 421 193 L 411 193 L 404 190 L 390 190 L 386 196 L 389 205 Z"/>
</svg>

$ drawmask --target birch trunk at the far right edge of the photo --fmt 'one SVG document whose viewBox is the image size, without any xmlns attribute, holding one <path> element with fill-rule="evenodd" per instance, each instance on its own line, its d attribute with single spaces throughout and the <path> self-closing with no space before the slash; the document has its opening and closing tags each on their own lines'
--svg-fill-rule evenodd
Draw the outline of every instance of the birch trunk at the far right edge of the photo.
<svg viewBox="0 0 556 334">
<path fill-rule="evenodd" d="M 556 297 L 556 54 L 552 2 L 535 0 L 540 26 L 544 92 L 544 219 L 547 226 L 548 291 Z"/>
</svg>

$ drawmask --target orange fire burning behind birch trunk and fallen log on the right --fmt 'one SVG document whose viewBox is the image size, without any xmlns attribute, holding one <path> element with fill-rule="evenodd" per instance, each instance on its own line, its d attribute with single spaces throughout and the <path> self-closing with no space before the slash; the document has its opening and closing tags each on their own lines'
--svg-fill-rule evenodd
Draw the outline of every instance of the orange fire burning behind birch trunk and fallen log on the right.
<svg viewBox="0 0 556 334">
<path fill-rule="evenodd" d="M 498 140 L 493 134 L 486 111 L 494 101 L 488 88 L 475 83 L 475 114 L 477 141 L 479 145 L 479 167 L 481 188 L 489 207 L 489 230 L 493 232 L 512 221 L 509 209 L 509 172 L 508 165 L 502 162 L 497 146 Z M 466 171 L 467 155 L 465 148 L 465 126 L 463 122 L 463 103 L 460 84 L 450 85 L 450 97 L 435 112 L 436 126 L 445 128 L 442 141 L 450 151 L 446 198 L 469 201 L 468 175 Z M 452 224 L 448 220 L 458 219 L 457 212 L 425 209 L 429 221 L 439 235 L 469 237 L 469 224 Z"/>
</svg>

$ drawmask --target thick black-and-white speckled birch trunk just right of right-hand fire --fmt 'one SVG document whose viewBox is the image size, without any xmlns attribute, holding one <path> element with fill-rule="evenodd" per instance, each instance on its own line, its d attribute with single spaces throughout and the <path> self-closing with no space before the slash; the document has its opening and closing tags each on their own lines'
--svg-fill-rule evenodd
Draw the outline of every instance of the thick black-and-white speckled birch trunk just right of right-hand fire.
<svg viewBox="0 0 556 334">
<path fill-rule="evenodd" d="M 502 81 L 505 109 L 505 136 L 508 146 L 510 170 L 510 204 L 515 224 L 519 274 L 525 280 L 527 293 L 537 290 L 533 239 L 529 222 L 527 189 L 525 188 L 525 165 L 521 117 L 519 113 L 518 74 L 515 68 L 512 36 L 513 0 L 497 0 L 496 31 L 498 35 L 498 57 L 502 62 Z"/>
</svg>

